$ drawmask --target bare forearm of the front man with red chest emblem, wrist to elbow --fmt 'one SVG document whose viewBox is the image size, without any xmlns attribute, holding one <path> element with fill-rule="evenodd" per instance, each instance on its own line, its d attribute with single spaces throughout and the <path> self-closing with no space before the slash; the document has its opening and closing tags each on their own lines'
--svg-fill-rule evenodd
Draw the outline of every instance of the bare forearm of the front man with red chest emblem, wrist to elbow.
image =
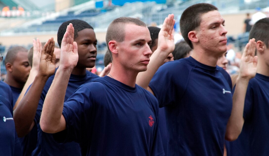
<svg viewBox="0 0 269 156">
<path fill-rule="evenodd" d="M 59 67 L 45 98 L 40 118 L 40 127 L 46 133 L 56 133 L 62 129 L 61 117 L 66 88 L 72 70 Z"/>
</svg>

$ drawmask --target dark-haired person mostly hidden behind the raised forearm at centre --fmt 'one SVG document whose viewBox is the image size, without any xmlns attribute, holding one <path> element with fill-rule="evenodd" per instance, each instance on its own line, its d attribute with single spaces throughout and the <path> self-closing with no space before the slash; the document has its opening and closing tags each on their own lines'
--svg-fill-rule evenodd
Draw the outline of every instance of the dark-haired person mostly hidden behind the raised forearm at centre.
<svg viewBox="0 0 269 156">
<path fill-rule="evenodd" d="M 150 37 L 152 39 L 150 49 L 154 53 L 155 50 L 158 48 L 158 35 L 161 30 L 161 28 L 158 27 L 148 27 L 148 30 L 150 31 Z M 163 63 L 174 61 L 174 56 L 172 53 L 170 53 L 167 58 L 164 60 Z"/>
</svg>

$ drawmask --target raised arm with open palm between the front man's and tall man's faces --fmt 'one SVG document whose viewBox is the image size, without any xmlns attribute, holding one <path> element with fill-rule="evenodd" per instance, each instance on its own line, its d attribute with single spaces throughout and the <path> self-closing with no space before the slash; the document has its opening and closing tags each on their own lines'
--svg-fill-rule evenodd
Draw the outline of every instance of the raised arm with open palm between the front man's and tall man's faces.
<svg viewBox="0 0 269 156">
<path fill-rule="evenodd" d="M 174 14 L 169 14 L 168 17 L 165 18 L 159 32 L 158 48 L 150 57 L 147 71 L 140 72 L 136 77 L 136 84 L 140 85 L 144 89 L 148 89 L 151 93 L 153 93 L 152 90 L 148 88 L 150 80 L 167 56 L 175 49 L 174 36 L 172 34 L 174 25 Z"/>
</svg>

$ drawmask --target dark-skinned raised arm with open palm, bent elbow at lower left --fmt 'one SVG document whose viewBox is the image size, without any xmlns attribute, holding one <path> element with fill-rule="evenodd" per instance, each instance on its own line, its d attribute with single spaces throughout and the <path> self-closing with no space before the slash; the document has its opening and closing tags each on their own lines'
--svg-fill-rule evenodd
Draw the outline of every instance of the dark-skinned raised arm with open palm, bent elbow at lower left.
<svg viewBox="0 0 269 156">
<path fill-rule="evenodd" d="M 53 38 L 44 45 L 40 55 L 39 70 L 33 84 L 13 111 L 16 131 L 19 137 L 27 135 L 34 126 L 38 102 L 48 78 L 55 72 L 55 54 Z"/>
</svg>

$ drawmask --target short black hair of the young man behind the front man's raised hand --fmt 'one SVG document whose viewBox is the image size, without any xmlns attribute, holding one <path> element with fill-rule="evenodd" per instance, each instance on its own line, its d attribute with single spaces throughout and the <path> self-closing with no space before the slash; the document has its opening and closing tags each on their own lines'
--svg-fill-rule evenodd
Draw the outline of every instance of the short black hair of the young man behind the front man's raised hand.
<svg viewBox="0 0 269 156">
<path fill-rule="evenodd" d="M 65 21 L 61 24 L 61 26 L 58 29 L 58 33 L 57 33 L 57 41 L 59 44 L 59 47 L 61 48 L 61 44 L 62 44 L 62 39 L 63 39 L 63 35 L 65 34 L 66 28 L 69 25 L 69 23 L 73 24 L 74 27 L 74 39 L 77 38 L 77 32 L 84 30 L 84 29 L 93 29 L 93 27 L 87 23 L 86 21 L 83 20 L 78 20 L 78 19 L 74 19 L 74 20 L 69 20 L 69 21 Z"/>
</svg>

